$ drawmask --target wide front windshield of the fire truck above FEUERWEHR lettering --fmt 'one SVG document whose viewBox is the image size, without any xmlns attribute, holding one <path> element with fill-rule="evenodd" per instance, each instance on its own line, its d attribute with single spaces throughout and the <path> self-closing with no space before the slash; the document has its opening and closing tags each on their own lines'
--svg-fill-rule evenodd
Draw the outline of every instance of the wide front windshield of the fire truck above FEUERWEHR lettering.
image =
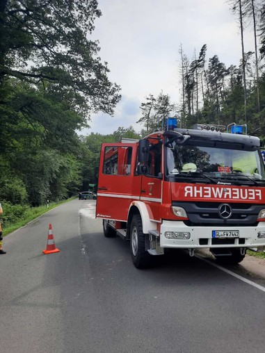
<svg viewBox="0 0 265 353">
<path fill-rule="evenodd" d="M 216 180 L 265 181 L 264 163 L 258 149 L 188 140 L 184 145 L 175 141 L 166 146 L 166 167 L 168 177 L 202 178 L 208 183 Z"/>
</svg>

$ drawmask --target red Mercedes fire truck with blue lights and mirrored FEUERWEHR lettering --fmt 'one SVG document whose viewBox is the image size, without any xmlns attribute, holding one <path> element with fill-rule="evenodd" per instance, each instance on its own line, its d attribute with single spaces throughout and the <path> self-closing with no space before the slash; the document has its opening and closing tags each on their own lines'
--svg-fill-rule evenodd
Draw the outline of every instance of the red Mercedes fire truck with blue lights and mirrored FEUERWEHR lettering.
<svg viewBox="0 0 265 353">
<path fill-rule="evenodd" d="M 102 144 L 96 217 L 130 240 L 136 268 L 164 249 L 208 248 L 220 263 L 265 247 L 265 170 L 246 125 L 196 125 Z"/>
</svg>

